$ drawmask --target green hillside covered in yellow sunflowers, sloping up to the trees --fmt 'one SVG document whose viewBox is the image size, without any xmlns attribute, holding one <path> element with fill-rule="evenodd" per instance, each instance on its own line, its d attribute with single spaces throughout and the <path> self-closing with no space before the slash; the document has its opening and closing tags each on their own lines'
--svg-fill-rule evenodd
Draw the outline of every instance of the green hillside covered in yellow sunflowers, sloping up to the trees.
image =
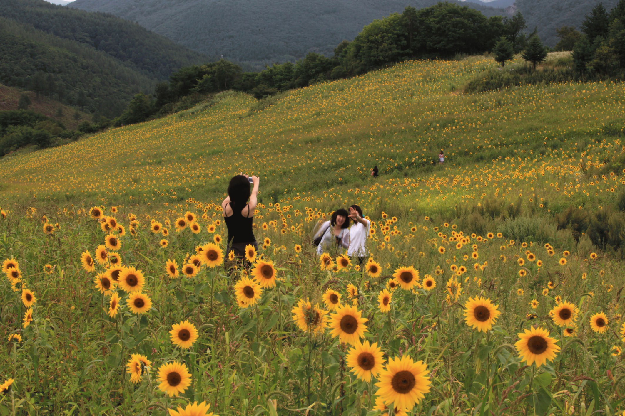
<svg viewBox="0 0 625 416">
<path fill-rule="evenodd" d="M 624 414 L 625 89 L 462 91 L 496 65 L 223 92 L 0 160 L 0 415 Z M 354 203 L 366 261 L 317 255 Z"/>
</svg>

